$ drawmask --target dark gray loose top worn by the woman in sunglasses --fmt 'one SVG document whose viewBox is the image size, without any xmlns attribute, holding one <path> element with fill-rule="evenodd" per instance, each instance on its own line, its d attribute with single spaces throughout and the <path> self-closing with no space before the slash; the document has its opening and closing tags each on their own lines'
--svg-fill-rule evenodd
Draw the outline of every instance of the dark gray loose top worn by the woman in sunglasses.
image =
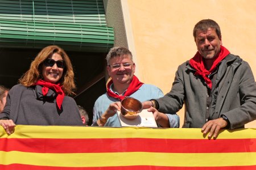
<svg viewBox="0 0 256 170">
<path fill-rule="evenodd" d="M 43 96 L 41 86 L 11 88 L 0 119 L 11 119 L 17 125 L 69 125 L 82 126 L 76 102 L 65 96 L 62 109 L 57 109 L 56 94 L 49 89 Z"/>
</svg>

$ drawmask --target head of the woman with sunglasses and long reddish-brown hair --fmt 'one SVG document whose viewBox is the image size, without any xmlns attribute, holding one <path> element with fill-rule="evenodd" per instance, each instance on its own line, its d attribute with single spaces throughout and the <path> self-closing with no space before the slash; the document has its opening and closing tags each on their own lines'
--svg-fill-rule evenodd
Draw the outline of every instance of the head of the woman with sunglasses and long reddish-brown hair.
<svg viewBox="0 0 256 170">
<path fill-rule="evenodd" d="M 47 64 L 50 62 L 54 63 L 53 66 Z M 40 79 L 55 84 L 60 83 L 66 95 L 74 94 L 76 86 L 73 67 L 68 55 L 59 46 L 50 45 L 43 48 L 31 62 L 30 69 L 19 79 L 19 83 L 30 87 Z"/>
</svg>

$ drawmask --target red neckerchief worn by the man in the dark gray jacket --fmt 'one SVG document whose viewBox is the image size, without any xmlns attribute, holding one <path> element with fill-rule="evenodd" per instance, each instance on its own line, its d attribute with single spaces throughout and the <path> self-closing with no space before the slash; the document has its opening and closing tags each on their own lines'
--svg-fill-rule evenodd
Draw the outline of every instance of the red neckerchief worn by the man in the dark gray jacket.
<svg viewBox="0 0 256 170">
<path fill-rule="evenodd" d="M 189 64 L 196 70 L 195 75 L 201 75 L 205 83 L 209 86 L 210 89 L 212 89 L 212 81 L 208 78 L 208 75 L 212 73 L 218 63 L 222 61 L 226 56 L 230 54 L 229 50 L 226 49 L 224 46 L 221 46 L 221 51 L 219 56 L 214 60 L 212 67 L 210 67 L 210 70 L 205 69 L 203 57 L 199 54 L 199 52 L 196 53 L 196 55 L 189 60 Z"/>
</svg>

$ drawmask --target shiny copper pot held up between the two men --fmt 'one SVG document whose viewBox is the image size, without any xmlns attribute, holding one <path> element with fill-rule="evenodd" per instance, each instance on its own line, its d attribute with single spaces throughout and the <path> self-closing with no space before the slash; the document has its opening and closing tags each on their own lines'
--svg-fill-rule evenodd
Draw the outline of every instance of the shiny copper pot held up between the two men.
<svg viewBox="0 0 256 170">
<path fill-rule="evenodd" d="M 142 111 L 141 101 L 132 97 L 125 97 L 121 101 L 121 114 L 128 119 L 134 119 Z"/>
</svg>

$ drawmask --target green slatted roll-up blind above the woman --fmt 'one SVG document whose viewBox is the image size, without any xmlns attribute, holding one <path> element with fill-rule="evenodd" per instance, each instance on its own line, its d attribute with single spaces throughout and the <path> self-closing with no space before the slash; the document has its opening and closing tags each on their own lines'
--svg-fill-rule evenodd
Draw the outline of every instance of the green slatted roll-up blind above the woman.
<svg viewBox="0 0 256 170">
<path fill-rule="evenodd" d="M 0 1 L 0 46 L 107 52 L 114 31 L 106 27 L 103 2 Z"/>
</svg>

